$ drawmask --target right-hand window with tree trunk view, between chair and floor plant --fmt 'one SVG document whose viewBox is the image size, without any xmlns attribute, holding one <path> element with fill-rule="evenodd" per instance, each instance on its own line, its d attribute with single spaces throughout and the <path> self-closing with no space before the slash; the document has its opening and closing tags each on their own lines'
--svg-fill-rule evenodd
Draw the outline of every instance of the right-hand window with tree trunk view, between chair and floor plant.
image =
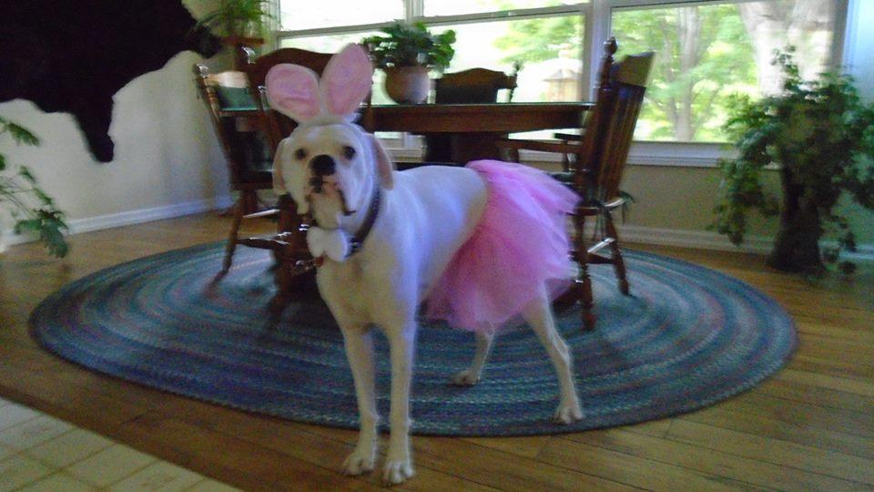
<svg viewBox="0 0 874 492">
<path fill-rule="evenodd" d="M 775 50 L 796 46 L 805 77 L 828 68 L 834 6 L 769 0 L 613 9 L 617 59 L 647 50 L 657 56 L 635 137 L 724 141 L 732 94 L 780 90 Z"/>
</svg>

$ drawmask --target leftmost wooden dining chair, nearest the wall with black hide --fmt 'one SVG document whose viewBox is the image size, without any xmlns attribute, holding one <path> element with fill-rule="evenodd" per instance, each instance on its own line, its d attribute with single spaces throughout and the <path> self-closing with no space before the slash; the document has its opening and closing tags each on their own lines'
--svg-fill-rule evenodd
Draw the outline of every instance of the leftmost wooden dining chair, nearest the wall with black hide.
<svg viewBox="0 0 874 492">
<path fill-rule="evenodd" d="M 276 208 L 261 207 L 258 198 L 259 190 L 273 188 L 272 150 L 268 128 L 261 118 L 252 116 L 257 107 L 249 94 L 246 74 L 236 70 L 213 74 L 202 64 L 195 64 L 193 69 L 198 94 L 207 107 L 228 163 L 230 189 L 239 193 L 231 208 L 231 226 L 222 262 L 221 272 L 227 273 L 240 242 L 242 221 L 279 213 Z"/>
</svg>

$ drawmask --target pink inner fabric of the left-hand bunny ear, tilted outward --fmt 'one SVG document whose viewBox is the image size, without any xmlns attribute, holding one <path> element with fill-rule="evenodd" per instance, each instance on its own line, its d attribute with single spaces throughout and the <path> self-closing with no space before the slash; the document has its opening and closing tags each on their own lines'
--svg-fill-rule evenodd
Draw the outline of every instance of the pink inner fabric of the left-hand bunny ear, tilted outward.
<svg viewBox="0 0 874 492">
<path fill-rule="evenodd" d="M 270 69 L 265 84 L 270 105 L 279 112 L 297 121 L 319 115 L 319 82 L 309 68 L 278 65 Z"/>
</svg>

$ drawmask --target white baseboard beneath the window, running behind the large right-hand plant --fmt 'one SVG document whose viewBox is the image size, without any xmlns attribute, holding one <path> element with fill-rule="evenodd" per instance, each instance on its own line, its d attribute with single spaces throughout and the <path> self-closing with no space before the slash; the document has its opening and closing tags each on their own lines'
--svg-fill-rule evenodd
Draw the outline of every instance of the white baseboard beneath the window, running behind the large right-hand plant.
<svg viewBox="0 0 874 492">
<path fill-rule="evenodd" d="M 700 250 L 746 251 L 766 254 L 774 245 L 774 238 L 767 236 L 747 236 L 744 243 L 735 246 L 726 236 L 711 231 L 685 231 L 659 229 L 635 225 L 621 225 L 619 235 L 623 241 L 645 242 L 663 246 L 681 246 Z M 829 242 L 824 243 L 826 245 Z M 831 243 L 833 244 L 833 243 Z M 859 244 L 856 252 L 841 252 L 841 258 L 849 261 L 874 262 L 874 244 Z"/>
</svg>

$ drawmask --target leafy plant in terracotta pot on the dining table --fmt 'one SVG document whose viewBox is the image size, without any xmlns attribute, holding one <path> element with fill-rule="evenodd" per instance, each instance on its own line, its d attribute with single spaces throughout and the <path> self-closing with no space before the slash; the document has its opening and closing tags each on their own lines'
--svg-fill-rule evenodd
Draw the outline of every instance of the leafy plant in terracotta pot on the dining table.
<svg viewBox="0 0 874 492">
<path fill-rule="evenodd" d="M 376 67 L 385 71 L 385 91 L 396 102 L 421 103 L 431 88 L 429 70 L 442 72 L 455 56 L 455 31 L 432 35 L 421 22 L 398 22 L 381 32 L 385 36 L 366 37 L 361 43 L 368 46 Z"/>
</svg>

